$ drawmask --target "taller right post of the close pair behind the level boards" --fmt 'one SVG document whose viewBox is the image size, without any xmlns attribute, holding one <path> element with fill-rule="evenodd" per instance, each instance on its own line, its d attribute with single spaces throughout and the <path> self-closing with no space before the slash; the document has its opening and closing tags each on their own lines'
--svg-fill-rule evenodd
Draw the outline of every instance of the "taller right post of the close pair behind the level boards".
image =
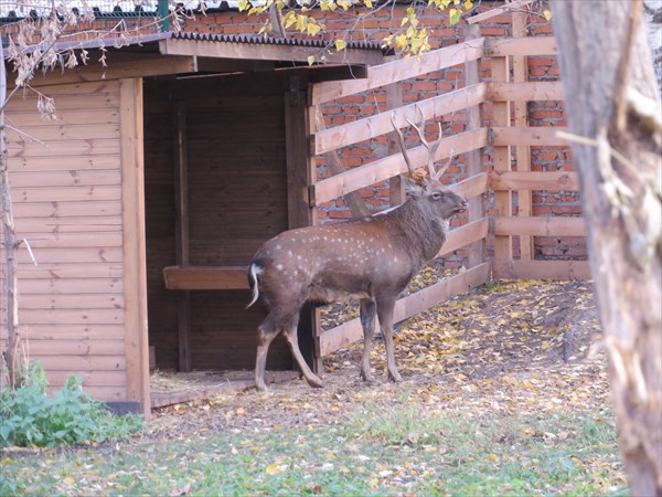
<svg viewBox="0 0 662 497">
<path fill-rule="evenodd" d="M 526 36 L 526 12 L 513 11 L 513 38 Z M 523 42 L 523 41 L 522 41 Z M 515 83 L 528 81 L 528 57 L 526 55 L 513 56 L 513 80 Z M 525 128 L 528 126 L 528 112 L 526 101 L 514 103 L 515 126 Z M 517 145 L 515 147 L 515 163 L 517 171 L 531 171 L 531 147 Z M 517 191 L 517 215 L 530 216 L 532 214 L 531 190 Z M 533 258 L 533 236 L 520 235 L 520 258 L 531 261 Z"/>
</svg>

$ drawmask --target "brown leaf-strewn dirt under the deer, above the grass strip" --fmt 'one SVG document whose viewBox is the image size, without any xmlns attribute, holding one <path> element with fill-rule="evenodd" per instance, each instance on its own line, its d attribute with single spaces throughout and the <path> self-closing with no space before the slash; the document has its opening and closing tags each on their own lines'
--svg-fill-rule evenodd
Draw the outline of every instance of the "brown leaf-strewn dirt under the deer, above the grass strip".
<svg viewBox="0 0 662 497">
<path fill-rule="evenodd" d="M 420 278 L 428 276 L 424 273 Z M 352 306 L 332 306 L 325 324 L 355 313 Z M 246 390 L 160 409 L 153 412 L 146 436 L 338 423 L 366 403 L 403 400 L 467 415 L 496 411 L 545 415 L 608 404 L 590 283 L 496 282 L 398 328 L 395 349 L 402 383 L 386 379 L 384 348 L 377 337 L 372 384 L 359 377 L 361 343 L 354 343 L 324 359 L 322 389 L 296 379 L 273 384 L 267 393 Z"/>
</svg>

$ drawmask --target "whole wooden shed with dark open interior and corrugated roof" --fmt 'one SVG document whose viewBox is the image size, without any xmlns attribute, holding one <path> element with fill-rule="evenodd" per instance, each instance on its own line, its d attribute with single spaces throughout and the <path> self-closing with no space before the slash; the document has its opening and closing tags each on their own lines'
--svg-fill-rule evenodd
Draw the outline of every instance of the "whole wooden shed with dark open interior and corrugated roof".
<svg viewBox="0 0 662 497">
<path fill-rule="evenodd" d="M 32 82 L 56 120 L 40 118 L 32 92 L 7 108 L 15 225 L 36 261 L 24 244 L 21 330 L 53 387 L 77 373 L 97 399 L 148 412 L 149 346 L 159 368 L 254 367 L 264 309 L 244 309 L 242 266 L 313 221 L 309 85 L 364 75 L 384 53 L 160 33 L 107 49 L 103 67 L 100 44 L 71 46 L 89 65 Z M 284 345 L 269 359 L 292 369 Z"/>
</svg>

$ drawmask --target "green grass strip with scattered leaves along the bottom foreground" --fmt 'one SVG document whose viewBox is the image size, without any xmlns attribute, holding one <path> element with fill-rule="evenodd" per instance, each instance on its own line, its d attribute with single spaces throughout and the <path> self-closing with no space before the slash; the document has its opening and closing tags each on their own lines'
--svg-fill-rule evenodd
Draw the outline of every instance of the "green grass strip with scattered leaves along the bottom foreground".
<svg viewBox="0 0 662 497">
<path fill-rule="evenodd" d="M 0 495 L 628 495 L 611 415 L 366 404 L 337 424 L 6 453 Z"/>
</svg>

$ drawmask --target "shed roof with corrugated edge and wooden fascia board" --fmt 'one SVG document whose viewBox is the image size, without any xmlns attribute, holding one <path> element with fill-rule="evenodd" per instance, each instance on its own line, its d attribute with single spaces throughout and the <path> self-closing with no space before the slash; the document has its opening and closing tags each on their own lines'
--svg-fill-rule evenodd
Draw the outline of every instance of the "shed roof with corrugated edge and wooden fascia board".
<svg viewBox="0 0 662 497">
<path fill-rule="evenodd" d="M 89 62 L 63 73 L 40 73 L 31 84 L 89 81 L 96 78 L 94 73 L 113 78 L 308 67 L 311 56 L 320 80 L 364 77 L 366 65 L 380 64 L 393 53 L 374 42 L 349 41 L 343 51 L 337 52 L 323 40 L 191 32 L 66 41 L 57 43 L 56 50 L 85 50 Z M 102 52 L 107 64 L 104 66 L 95 63 Z"/>
</svg>

